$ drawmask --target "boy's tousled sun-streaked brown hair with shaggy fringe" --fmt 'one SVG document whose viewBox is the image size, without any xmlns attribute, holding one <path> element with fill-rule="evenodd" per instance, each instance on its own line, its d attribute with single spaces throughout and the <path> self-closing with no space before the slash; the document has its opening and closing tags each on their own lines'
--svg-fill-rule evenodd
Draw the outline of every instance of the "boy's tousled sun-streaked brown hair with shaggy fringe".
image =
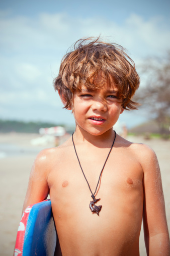
<svg viewBox="0 0 170 256">
<path fill-rule="evenodd" d="M 95 83 L 99 74 L 100 82 Z M 124 109 L 137 109 L 139 104 L 131 98 L 139 87 L 140 78 L 133 60 L 121 45 L 100 41 L 99 37 L 89 37 L 76 41 L 72 50 L 62 58 L 59 74 L 53 84 L 65 100 L 64 108 L 71 109 L 73 94 L 82 86 L 99 89 L 106 82 L 109 82 L 109 86 L 113 83 L 116 85 Z"/>
</svg>

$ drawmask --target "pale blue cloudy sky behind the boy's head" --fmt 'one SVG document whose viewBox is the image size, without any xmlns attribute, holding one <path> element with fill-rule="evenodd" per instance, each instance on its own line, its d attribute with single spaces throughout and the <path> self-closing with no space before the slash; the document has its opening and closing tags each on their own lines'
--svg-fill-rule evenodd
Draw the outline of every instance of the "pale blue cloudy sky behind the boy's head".
<svg viewBox="0 0 170 256">
<path fill-rule="evenodd" d="M 101 35 L 127 48 L 138 71 L 169 50 L 169 10 L 165 0 L 0 1 L 0 119 L 74 124 L 53 88 L 67 49 Z M 124 111 L 120 122 L 130 128 L 147 118 L 140 109 Z"/>
</svg>

